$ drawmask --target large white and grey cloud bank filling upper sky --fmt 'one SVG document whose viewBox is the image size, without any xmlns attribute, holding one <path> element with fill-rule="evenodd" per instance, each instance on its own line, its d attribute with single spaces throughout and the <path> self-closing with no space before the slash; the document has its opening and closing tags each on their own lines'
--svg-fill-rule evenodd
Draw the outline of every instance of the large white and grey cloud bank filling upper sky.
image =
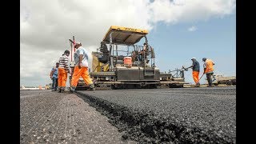
<svg viewBox="0 0 256 144">
<path fill-rule="evenodd" d="M 23 85 L 50 83 L 49 72 L 74 35 L 96 50 L 110 26 L 152 30 L 157 22 L 194 22 L 234 13 L 233 0 L 21 0 L 20 76 Z M 38 79 L 38 80 L 37 80 Z"/>
</svg>

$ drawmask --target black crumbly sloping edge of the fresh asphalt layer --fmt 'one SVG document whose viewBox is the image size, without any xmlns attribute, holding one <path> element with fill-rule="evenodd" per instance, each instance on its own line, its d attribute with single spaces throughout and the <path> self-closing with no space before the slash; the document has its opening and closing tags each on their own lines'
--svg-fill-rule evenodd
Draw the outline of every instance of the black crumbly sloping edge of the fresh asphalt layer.
<svg viewBox="0 0 256 144">
<path fill-rule="evenodd" d="M 106 115 L 110 123 L 122 132 L 124 139 L 138 143 L 234 143 L 229 138 L 220 137 L 214 130 L 202 130 L 175 118 L 135 110 L 79 91 L 75 94 Z"/>
</svg>

